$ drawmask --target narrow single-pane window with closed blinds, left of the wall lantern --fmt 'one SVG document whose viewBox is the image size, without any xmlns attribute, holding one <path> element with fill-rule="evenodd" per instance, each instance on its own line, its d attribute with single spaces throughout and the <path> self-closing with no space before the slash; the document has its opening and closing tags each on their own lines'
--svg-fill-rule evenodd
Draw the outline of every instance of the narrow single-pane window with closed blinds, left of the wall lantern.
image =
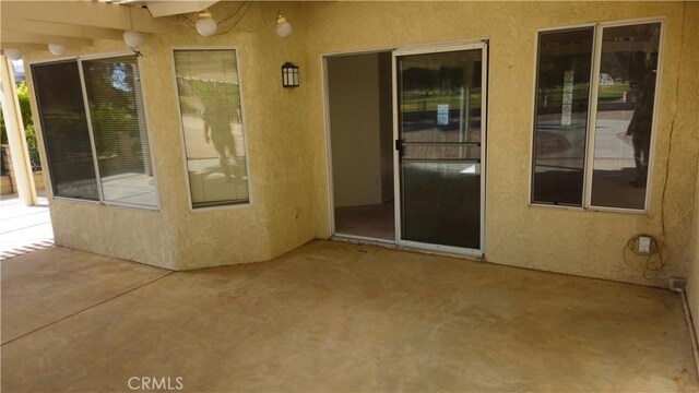
<svg viewBox="0 0 699 393">
<path fill-rule="evenodd" d="M 192 207 L 249 202 L 236 51 L 174 56 Z"/>
</svg>

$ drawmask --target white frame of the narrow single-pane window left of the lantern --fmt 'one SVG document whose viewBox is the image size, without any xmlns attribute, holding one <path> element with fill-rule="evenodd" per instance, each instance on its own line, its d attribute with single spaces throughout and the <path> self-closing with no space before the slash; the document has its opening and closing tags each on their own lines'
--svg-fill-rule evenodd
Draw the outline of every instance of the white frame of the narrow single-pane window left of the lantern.
<svg viewBox="0 0 699 393">
<path fill-rule="evenodd" d="M 248 177 L 248 201 L 247 202 L 237 202 L 237 203 L 225 203 L 225 204 L 216 204 L 212 206 L 201 206 L 194 207 L 194 203 L 192 201 L 192 190 L 189 181 L 189 168 L 187 164 L 187 147 L 185 145 L 185 123 L 182 121 L 182 108 L 179 104 L 179 87 L 177 86 L 177 70 L 175 69 L 175 51 L 176 50 L 233 50 L 236 60 L 236 72 L 238 74 L 238 92 L 240 96 L 240 122 L 242 123 L 242 146 L 245 151 L 245 170 Z M 250 174 L 250 155 L 248 154 L 248 128 L 246 121 L 246 109 L 245 109 L 245 99 L 244 99 L 244 87 L 242 87 L 242 70 L 240 69 L 240 49 L 236 46 L 174 46 L 170 47 L 170 62 L 171 62 L 171 80 L 173 80 L 173 88 L 175 92 L 175 106 L 177 107 L 177 115 L 179 117 L 179 144 L 182 156 L 182 170 L 185 175 L 185 182 L 187 183 L 187 201 L 189 203 L 189 211 L 192 213 L 199 212 L 210 212 L 217 210 L 228 210 L 228 209 L 246 209 L 252 205 L 252 176 Z"/>
</svg>

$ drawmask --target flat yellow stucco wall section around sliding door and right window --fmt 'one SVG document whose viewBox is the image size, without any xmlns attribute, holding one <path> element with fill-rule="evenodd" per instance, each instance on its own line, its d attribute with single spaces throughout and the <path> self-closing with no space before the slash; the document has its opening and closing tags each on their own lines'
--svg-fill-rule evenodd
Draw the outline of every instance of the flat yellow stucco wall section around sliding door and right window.
<svg viewBox="0 0 699 393">
<path fill-rule="evenodd" d="M 686 10 L 685 10 L 686 8 Z M 489 112 L 485 258 L 487 261 L 553 272 L 665 285 L 687 276 L 696 175 L 687 169 L 697 156 L 695 91 L 677 91 L 697 81 L 698 7 L 682 2 L 329 2 L 307 5 L 313 23 L 307 38 L 311 75 L 320 75 L 323 53 L 489 39 Z M 691 16 L 694 15 L 694 16 Z M 595 21 L 665 17 L 660 111 L 648 215 L 595 213 L 529 206 L 536 29 Z M 683 32 L 683 23 L 685 28 Z M 694 33 L 694 34 L 692 34 Z M 679 43 L 683 43 L 682 47 Z M 682 57 L 683 61 L 677 61 Z M 679 75 L 678 75 L 679 73 Z M 322 105 L 321 79 L 306 93 L 311 107 Z M 676 108 L 676 117 L 675 115 Z M 317 236 L 329 235 L 320 111 L 310 112 L 313 135 Z M 672 131 L 672 158 L 661 209 Z M 665 234 L 661 229 L 664 211 Z M 621 251 L 639 233 L 665 239 L 666 263 L 654 281 L 643 278 L 639 260 L 628 266 Z"/>
</svg>

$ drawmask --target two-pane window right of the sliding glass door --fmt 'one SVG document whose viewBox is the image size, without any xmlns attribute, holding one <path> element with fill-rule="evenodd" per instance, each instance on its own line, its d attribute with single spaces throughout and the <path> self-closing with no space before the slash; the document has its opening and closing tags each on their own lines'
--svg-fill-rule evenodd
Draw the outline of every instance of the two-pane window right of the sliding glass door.
<svg viewBox="0 0 699 393">
<path fill-rule="evenodd" d="M 532 203 L 645 210 L 660 33 L 540 33 Z"/>
</svg>

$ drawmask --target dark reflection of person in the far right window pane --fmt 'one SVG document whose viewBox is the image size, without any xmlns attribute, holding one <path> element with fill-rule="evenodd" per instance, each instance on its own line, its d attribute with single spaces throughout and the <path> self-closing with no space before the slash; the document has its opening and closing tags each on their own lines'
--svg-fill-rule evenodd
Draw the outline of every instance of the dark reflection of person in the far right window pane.
<svg viewBox="0 0 699 393">
<path fill-rule="evenodd" d="M 650 68 L 641 85 L 640 96 L 626 131 L 633 142 L 633 159 L 636 160 L 636 180 L 630 181 L 635 187 L 645 187 L 648 179 L 648 158 L 651 148 L 651 128 L 653 126 L 653 100 L 655 98 L 655 66 L 657 53 L 650 55 Z"/>
</svg>

